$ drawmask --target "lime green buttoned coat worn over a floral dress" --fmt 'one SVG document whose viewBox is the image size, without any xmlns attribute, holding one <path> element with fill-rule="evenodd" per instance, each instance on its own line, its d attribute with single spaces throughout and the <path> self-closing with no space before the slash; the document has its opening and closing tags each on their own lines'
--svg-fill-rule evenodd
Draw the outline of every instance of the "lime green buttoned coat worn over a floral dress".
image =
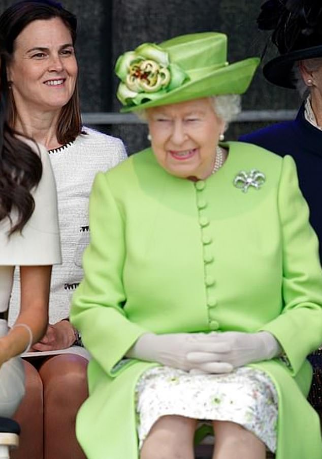
<svg viewBox="0 0 322 459">
<path fill-rule="evenodd" d="M 137 459 L 134 389 L 154 364 L 121 360 L 147 332 L 268 330 L 280 359 L 253 365 L 279 395 L 277 459 L 321 459 L 305 396 L 306 356 L 322 341 L 317 239 L 291 157 L 231 142 L 205 181 L 169 175 L 150 149 L 96 176 L 91 242 L 71 311 L 92 354 L 77 437 L 89 459 Z M 258 169 L 261 189 L 233 184 Z M 304 394 L 304 395 L 303 395 Z"/>
</svg>

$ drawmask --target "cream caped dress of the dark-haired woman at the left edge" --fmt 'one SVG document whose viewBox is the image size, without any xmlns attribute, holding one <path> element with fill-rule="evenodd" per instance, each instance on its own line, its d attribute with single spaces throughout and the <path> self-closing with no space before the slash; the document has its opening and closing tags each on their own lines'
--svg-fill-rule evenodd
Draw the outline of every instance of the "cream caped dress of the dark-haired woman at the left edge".
<svg viewBox="0 0 322 459">
<path fill-rule="evenodd" d="M 27 141 L 37 151 L 35 144 Z M 0 312 L 8 309 L 14 267 L 61 263 L 55 181 L 48 152 L 39 147 L 43 174 L 32 191 L 35 210 L 22 232 L 8 238 L 9 219 L 0 222 Z M 15 212 L 12 220 L 16 220 Z M 8 332 L 7 321 L 0 319 L 0 337 Z M 24 395 L 24 371 L 20 357 L 0 367 L 0 416 L 11 417 Z"/>
</svg>

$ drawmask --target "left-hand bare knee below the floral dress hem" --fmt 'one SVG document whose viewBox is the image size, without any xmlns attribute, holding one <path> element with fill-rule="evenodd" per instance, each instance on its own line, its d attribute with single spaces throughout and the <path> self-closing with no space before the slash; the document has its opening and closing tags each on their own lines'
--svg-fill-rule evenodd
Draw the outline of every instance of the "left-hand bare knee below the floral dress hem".
<svg viewBox="0 0 322 459">
<path fill-rule="evenodd" d="M 197 421 L 183 416 L 162 416 L 145 439 L 140 459 L 194 459 Z"/>
</svg>

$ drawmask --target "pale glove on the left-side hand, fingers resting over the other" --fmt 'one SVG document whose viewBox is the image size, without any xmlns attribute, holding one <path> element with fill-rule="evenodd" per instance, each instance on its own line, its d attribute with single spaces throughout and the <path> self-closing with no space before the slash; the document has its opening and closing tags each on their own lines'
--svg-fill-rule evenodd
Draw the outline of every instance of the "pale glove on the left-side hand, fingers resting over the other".
<svg viewBox="0 0 322 459">
<path fill-rule="evenodd" d="M 216 342 L 209 333 L 170 333 L 156 335 L 145 333 L 127 351 L 126 357 L 157 362 L 163 365 L 189 371 L 202 370 L 207 373 L 228 373 L 231 363 L 216 361 L 214 355 L 227 355 L 230 343 Z M 192 355 L 192 361 L 187 359 Z"/>
</svg>

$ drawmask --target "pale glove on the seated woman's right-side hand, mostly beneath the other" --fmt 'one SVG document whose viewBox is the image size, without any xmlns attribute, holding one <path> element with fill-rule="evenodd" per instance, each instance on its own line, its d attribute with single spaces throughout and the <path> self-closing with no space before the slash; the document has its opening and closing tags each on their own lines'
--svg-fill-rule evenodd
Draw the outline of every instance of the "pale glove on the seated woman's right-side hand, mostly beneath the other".
<svg viewBox="0 0 322 459">
<path fill-rule="evenodd" d="M 211 361 L 230 363 L 234 368 L 247 363 L 273 359 L 281 352 L 278 341 L 267 331 L 258 333 L 227 331 L 210 333 L 209 336 L 212 336 L 213 343 L 218 345 L 212 354 Z M 220 348 L 220 345 L 223 347 Z M 201 370 L 211 372 L 209 356 L 205 356 L 204 353 L 192 351 L 187 354 L 186 358 L 191 364 L 198 362 Z"/>
</svg>

